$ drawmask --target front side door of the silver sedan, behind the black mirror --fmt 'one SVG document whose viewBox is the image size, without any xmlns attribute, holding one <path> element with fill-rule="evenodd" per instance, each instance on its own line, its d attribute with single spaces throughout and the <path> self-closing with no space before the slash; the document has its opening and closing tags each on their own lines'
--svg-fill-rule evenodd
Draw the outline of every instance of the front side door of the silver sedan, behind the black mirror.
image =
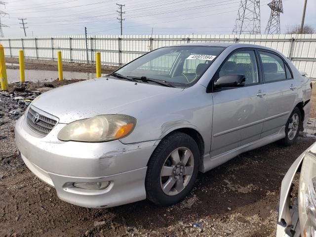
<svg viewBox="0 0 316 237">
<path fill-rule="evenodd" d="M 244 75 L 242 87 L 213 91 L 211 157 L 260 139 L 267 102 L 255 49 L 240 49 L 228 57 L 214 79 L 229 74 Z"/>
</svg>

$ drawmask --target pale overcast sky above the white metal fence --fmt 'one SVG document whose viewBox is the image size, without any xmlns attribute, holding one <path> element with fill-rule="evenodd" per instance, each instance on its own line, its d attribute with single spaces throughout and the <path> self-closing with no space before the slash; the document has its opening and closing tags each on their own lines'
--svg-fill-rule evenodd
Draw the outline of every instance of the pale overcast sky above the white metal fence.
<svg viewBox="0 0 316 237">
<path fill-rule="evenodd" d="M 231 34 L 240 0 L 5 0 L 0 9 L 4 36 L 24 36 L 18 18 L 27 18 L 27 36 L 119 35 L 118 6 L 123 7 L 123 35 Z M 271 0 L 261 0 L 261 32 Z M 301 23 L 304 0 L 283 0 L 281 33 Z M 308 0 L 306 25 L 316 28 L 316 0 Z"/>
</svg>

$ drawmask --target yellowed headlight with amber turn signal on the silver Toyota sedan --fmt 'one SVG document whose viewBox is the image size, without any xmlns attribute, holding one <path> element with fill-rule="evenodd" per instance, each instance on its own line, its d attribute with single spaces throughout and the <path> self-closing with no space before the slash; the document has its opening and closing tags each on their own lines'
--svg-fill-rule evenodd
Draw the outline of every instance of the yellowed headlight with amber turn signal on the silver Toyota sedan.
<svg viewBox="0 0 316 237">
<path fill-rule="evenodd" d="M 58 133 L 62 141 L 106 142 L 129 135 L 136 118 L 127 115 L 100 115 L 66 125 Z"/>
</svg>

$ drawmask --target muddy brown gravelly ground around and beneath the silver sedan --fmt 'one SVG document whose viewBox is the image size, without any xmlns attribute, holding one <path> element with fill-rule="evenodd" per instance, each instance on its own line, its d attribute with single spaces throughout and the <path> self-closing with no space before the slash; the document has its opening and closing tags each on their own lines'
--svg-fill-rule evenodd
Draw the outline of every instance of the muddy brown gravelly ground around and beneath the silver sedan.
<svg viewBox="0 0 316 237">
<path fill-rule="evenodd" d="M 42 84 L 27 85 L 33 91 L 37 87 Z M 25 92 L 14 96 L 21 93 Z M 24 165 L 13 133 L 14 122 L 23 112 L 7 113 L 15 108 L 12 98 L 0 95 L 0 124 L 6 122 L 0 125 L 0 237 L 274 237 L 282 178 L 316 141 L 302 133 L 291 147 L 273 143 L 244 153 L 199 174 L 191 194 L 170 207 L 144 200 L 88 209 L 58 199 L 55 190 Z M 316 106 L 311 117 L 316 118 Z"/>
</svg>

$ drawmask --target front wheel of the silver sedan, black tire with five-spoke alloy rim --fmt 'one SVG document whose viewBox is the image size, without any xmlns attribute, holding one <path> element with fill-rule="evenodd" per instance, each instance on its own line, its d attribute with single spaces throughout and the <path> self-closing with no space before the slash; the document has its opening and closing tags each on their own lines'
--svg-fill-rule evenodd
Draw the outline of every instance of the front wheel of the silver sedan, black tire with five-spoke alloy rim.
<svg viewBox="0 0 316 237">
<path fill-rule="evenodd" d="M 189 135 L 174 132 L 164 138 L 148 162 L 147 198 L 158 205 L 172 205 L 186 197 L 197 179 L 199 149 Z"/>
</svg>

